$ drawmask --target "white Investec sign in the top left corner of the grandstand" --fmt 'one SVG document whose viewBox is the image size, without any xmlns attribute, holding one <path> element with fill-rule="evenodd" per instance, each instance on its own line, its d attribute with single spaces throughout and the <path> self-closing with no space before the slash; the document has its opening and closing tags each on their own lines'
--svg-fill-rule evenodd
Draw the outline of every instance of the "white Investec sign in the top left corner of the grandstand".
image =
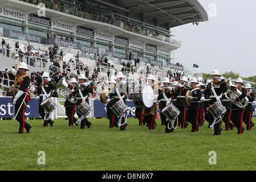
<svg viewBox="0 0 256 182">
<path fill-rule="evenodd" d="M 10 7 L 0 7 L 0 16 L 25 21 L 25 14 L 21 10 Z"/>
</svg>

